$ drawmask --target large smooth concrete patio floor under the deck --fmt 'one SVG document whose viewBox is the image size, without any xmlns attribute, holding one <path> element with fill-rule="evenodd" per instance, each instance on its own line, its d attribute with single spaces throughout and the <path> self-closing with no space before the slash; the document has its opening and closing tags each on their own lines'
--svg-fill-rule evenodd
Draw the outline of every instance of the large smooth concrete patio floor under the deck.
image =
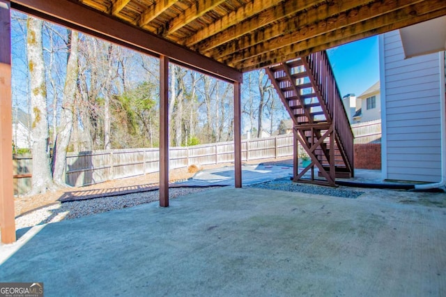
<svg viewBox="0 0 446 297">
<path fill-rule="evenodd" d="M 34 227 L 0 282 L 43 282 L 45 296 L 445 296 L 444 199 L 218 188 Z"/>
</svg>

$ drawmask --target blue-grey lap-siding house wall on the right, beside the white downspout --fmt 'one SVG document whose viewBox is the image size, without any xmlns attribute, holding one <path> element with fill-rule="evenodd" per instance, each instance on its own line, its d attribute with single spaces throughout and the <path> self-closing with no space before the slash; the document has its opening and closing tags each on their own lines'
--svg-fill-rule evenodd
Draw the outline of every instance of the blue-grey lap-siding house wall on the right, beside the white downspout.
<svg viewBox="0 0 446 297">
<path fill-rule="evenodd" d="M 399 31 L 379 41 L 383 178 L 438 182 L 444 53 L 404 59 Z"/>
</svg>

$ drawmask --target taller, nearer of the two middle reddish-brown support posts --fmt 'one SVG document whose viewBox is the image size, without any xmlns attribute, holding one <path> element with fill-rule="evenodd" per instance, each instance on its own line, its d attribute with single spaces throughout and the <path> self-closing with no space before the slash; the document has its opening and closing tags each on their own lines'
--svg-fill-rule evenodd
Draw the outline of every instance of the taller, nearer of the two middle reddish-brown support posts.
<svg viewBox="0 0 446 297">
<path fill-rule="evenodd" d="M 169 58 L 160 56 L 160 206 L 169 206 Z"/>
</svg>

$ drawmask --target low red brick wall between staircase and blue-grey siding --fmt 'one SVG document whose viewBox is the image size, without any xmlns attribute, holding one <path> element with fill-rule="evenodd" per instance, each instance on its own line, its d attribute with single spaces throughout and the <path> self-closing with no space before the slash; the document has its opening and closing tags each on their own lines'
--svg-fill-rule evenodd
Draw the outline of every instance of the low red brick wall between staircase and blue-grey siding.
<svg viewBox="0 0 446 297">
<path fill-rule="evenodd" d="M 355 144 L 355 169 L 381 169 L 381 144 Z"/>
</svg>

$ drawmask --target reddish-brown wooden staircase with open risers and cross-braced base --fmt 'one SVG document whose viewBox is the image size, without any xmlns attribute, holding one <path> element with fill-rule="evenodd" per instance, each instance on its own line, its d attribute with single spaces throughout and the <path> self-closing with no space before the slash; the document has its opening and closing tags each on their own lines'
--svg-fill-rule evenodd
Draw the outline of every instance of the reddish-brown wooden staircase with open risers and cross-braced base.
<svg viewBox="0 0 446 297">
<path fill-rule="evenodd" d="M 326 52 L 271 66 L 266 73 L 293 119 L 293 180 L 335 186 L 335 178 L 353 177 L 353 133 Z M 298 143 L 311 158 L 301 172 Z M 311 177 L 303 178 L 309 170 Z"/>
</svg>

